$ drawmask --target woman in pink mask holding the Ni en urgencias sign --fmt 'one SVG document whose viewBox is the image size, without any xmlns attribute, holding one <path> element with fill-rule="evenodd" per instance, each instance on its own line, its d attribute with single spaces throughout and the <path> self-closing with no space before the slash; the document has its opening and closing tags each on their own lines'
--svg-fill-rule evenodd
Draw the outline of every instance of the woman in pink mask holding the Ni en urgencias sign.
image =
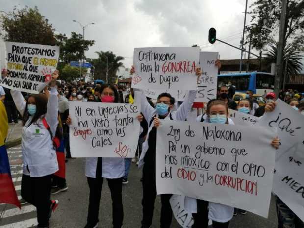
<svg viewBox="0 0 304 228">
<path fill-rule="evenodd" d="M 117 103 L 119 100 L 115 86 L 104 84 L 99 90 L 99 99 L 102 103 Z M 142 116 L 138 116 L 141 121 Z M 67 119 L 71 125 L 71 118 Z M 97 228 L 99 222 L 99 205 L 103 178 L 106 178 L 111 191 L 113 228 L 121 228 L 123 225 L 124 211 L 122 199 L 122 179 L 125 174 L 125 161 L 123 157 L 87 157 L 85 164 L 90 196 L 87 216 L 87 224 L 84 228 Z"/>
</svg>

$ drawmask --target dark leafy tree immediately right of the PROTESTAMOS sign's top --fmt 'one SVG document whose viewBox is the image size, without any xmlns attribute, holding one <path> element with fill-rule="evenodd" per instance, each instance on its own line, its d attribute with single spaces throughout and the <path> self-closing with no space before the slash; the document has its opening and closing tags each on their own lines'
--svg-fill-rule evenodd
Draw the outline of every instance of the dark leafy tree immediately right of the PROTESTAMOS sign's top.
<svg viewBox="0 0 304 228">
<path fill-rule="evenodd" d="M 78 61 L 85 59 L 84 51 L 88 51 L 95 41 L 84 40 L 81 34 L 71 33 L 71 37 L 67 38 L 66 34 L 55 36 L 57 45 L 60 47 L 59 59 L 63 61 Z"/>
</svg>

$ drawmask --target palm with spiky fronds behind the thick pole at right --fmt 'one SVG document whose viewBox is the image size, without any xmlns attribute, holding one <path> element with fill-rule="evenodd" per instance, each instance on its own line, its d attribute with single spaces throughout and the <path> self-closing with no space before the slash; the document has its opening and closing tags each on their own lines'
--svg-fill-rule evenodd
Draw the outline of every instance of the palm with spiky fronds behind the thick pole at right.
<svg viewBox="0 0 304 228">
<path fill-rule="evenodd" d="M 266 53 L 264 54 L 265 62 L 267 63 L 267 65 L 276 62 L 278 50 L 277 47 L 277 41 L 271 40 L 269 42 L 269 48 L 265 50 Z M 301 54 L 301 51 L 299 51 L 297 47 L 290 43 L 287 43 L 283 50 L 283 72 L 285 71 L 287 59 L 287 75 L 295 76 L 297 74 L 300 74 L 302 68 L 301 61 L 304 59 L 304 57 Z"/>
</svg>

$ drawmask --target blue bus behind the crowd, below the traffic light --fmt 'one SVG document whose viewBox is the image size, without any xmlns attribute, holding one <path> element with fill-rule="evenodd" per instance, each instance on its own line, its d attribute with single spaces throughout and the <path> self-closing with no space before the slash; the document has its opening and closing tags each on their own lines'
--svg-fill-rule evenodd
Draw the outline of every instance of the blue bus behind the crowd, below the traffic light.
<svg viewBox="0 0 304 228">
<path fill-rule="evenodd" d="M 218 75 L 218 86 L 232 82 L 236 92 L 252 90 L 253 94 L 263 95 L 274 91 L 275 76 L 265 72 L 232 73 Z"/>
</svg>

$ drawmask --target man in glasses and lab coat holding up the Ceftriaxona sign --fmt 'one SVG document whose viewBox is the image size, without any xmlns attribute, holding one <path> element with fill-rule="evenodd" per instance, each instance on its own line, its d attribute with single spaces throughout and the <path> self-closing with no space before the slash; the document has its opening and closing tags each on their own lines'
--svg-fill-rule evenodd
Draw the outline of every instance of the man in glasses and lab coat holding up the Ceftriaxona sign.
<svg viewBox="0 0 304 228">
<path fill-rule="evenodd" d="M 219 65 L 219 61 L 216 63 Z M 134 67 L 131 69 L 131 74 L 135 73 Z M 202 71 L 196 69 L 196 75 L 200 77 Z M 185 120 L 188 113 L 191 111 L 192 104 L 195 100 L 196 90 L 190 91 L 184 102 L 176 111 L 172 111 L 175 99 L 169 93 L 162 93 L 157 98 L 156 108 L 153 108 L 146 99 L 146 96 L 141 92 L 139 100 L 141 102 L 142 113 L 144 118 L 149 123 L 149 129 L 146 140 L 143 144 L 143 151 L 139 160 L 139 167 L 143 167 L 143 219 L 142 228 L 149 228 L 152 224 L 154 203 L 156 199 L 156 128 L 155 123 L 159 123 L 159 119 L 165 120 Z M 138 98 L 136 98 L 138 99 Z M 161 217 L 160 227 L 169 228 L 172 221 L 172 209 L 170 206 L 171 194 L 161 195 Z"/>
</svg>

